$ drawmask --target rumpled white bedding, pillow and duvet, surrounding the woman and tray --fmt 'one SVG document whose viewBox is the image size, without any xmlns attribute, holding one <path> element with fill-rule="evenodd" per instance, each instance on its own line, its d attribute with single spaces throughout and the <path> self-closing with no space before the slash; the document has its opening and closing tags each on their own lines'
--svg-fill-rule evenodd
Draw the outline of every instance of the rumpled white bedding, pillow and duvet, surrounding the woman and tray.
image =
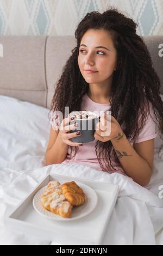
<svg viewBox="0 0 163 256">
<path fill-rule="evenodd" d="M 155 140 L 154 173 L 150 184 L 143 188 L 121 174 L 77 163 L 43 166 L 50 129 L 47 114 L 46 108 L 0 96 L 0 244 L 66 244 L 64 240 L 47 241 L 22 234 L 4 223 L 4 218 L 45 175 L 56 173 L 120 186 L 104 245 L 163 245 L 163 152 L 159 159 L 159 138 Z"/>
</svg>

